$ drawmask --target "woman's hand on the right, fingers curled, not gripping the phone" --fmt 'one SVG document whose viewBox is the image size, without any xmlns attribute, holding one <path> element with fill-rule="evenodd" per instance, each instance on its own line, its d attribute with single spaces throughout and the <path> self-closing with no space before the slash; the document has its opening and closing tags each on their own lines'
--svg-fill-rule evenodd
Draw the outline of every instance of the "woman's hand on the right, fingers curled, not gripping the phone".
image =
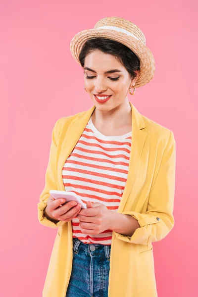
<svg viewBox="0 0 198 297">
<path fill-rule="evenodd" d="M 112 216 L 113 211 L 108 210 L 104 204 L 88 201 L 87 208 L 81 209 L 76 218 L 80 220 L 83 233 L 97 235 L 109 229 Z"/>
</svg>

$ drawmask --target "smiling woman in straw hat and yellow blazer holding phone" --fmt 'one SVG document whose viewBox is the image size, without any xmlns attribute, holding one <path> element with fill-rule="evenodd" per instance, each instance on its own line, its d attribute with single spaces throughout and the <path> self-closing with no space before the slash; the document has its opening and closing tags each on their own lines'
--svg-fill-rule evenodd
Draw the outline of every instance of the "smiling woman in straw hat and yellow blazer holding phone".
<svg viewBox="0 0 198 297">
<path fill-rule="evenodd" d="M 156 297 L 152 242 L 174 226 L 175 139 L 127 97 L 152 79 L 153 55 L 140 28 L 118 17 L 70 48 L 94 106 L 52 131 L 38 218 L 58 232 L 43 297 Z M 50 190 L 73 191 L 87 208 L 60 207 Z"/>
</svg>

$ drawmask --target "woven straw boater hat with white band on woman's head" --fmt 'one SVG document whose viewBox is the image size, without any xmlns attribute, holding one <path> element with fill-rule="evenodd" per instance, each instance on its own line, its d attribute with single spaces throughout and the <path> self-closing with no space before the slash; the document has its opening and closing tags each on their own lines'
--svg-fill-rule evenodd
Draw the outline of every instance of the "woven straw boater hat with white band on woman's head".
<svg viewBox="0 0 198 297">
<path fill-rule="evenodd" d="M 155 61 L 150 49 L 146 47 L 146 38 L 142 30 L 134 23 L 121 17 L 104 17 L 94 29 L 83 30 L 71 40 L 70 50 L 76 62 L 81 66 L 79 54 L 84 43 L 93 38 L 115 40 L 131 49 L 140 59 L 140 73 L 135 88 L 142 87 L 153 78 Z"/>
</svg>

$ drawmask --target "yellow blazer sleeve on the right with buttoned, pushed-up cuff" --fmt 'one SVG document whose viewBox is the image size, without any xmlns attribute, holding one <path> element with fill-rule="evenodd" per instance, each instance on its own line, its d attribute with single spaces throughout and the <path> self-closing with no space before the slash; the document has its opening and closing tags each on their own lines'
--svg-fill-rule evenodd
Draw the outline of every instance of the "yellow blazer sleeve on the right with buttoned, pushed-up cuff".
<svg viewBox="0 0 198 297">
<path fill-rule="evenodd" d="M 174 226 L 176 144 L 172 131 L 164 150 L 154 184 L 148 198 L 146 213 L 124 211 L 140 225 L 131 237 L 115 232 L 115 236 L 128 243 L 149 245 L 163 239 Z"/>
</svg>

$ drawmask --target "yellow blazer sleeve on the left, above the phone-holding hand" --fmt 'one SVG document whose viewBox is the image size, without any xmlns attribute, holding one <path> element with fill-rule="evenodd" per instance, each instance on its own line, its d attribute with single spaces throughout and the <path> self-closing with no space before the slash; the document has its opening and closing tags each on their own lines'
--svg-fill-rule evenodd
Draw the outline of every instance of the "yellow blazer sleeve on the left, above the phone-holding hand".
<svg viewBox="0 0 198 297">
<path fill-rule="evenodd" d="M 58 190 L 56 184 L 56 149 L 57 149 L 57 126 L 60 119 L 58 119 L 53 127 L 51 135 L 51 145 L 49 150 L 49 161 L 46 170 L 45 176 L 45 187 L 40 195 L 39 203 L 37 204 L 38 208 L 38 219 L 39 222 L 50 228 L 58 228 L 62 226 L 65 221 L 58 221 L 56 224 L 47 219 L 44 216 L 44 209 L 47 206 L 47 200 L 50 196 L 50 190 Z"/>
</svg>

